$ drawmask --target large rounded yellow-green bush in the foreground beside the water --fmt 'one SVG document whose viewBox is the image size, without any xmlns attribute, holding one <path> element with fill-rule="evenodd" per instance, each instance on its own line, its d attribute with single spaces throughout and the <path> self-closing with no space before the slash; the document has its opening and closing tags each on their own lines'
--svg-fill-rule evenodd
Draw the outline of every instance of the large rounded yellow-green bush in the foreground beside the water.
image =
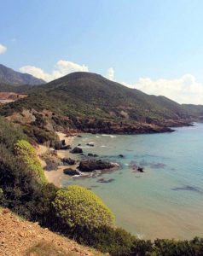
<svg viewBox="0 0 203 256">
<path fill-rule="evenodd" d="M 71 229 L 88 229 L 114 224 L 113 212 L 93 192 L 77 185 L 60 189 L 53 202 L 55 212 L 63 224 Z"/>
</svg>

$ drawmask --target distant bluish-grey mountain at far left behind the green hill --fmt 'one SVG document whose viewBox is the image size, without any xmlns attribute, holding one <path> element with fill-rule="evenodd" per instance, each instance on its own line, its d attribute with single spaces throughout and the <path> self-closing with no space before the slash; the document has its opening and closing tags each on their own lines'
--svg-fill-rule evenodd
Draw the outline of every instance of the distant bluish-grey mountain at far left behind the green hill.
<svg viewBox="0 0 203 256">
<path fill-rule="evenodd" d="M 13 69 L 0 64 L 0 84 L 39 85 L 44 83 L 43 79 L 37 79 L 27 73 L 16 72 Z"/>
</svg>

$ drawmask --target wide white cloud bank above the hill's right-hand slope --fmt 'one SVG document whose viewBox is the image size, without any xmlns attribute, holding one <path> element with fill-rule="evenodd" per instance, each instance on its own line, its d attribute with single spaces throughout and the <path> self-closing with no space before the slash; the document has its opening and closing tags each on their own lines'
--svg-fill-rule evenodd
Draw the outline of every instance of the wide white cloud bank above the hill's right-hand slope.
<svg viewBox="0 0 203 256">
<path fill-rule="evenodd" d="M 203 104 L 203 84 L 189 73 L 179 79 L 141 78 L 135 84 L 122 84 L 148 94 L 166 96 L 179 103 Z"/>
</svg>

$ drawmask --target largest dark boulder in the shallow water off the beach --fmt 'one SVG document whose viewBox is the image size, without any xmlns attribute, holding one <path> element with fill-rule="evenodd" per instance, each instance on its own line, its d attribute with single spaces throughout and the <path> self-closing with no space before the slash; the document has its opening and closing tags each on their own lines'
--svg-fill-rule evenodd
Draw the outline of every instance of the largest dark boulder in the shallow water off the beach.
<svg viewBox="0 0 203 256">
<path fill-rule="evenodd" d="M 95 170 L 104 170 L 113 168 L 115 165 L 104 160 L 86 159 L 81 160 L 78 169 L 81 172 L 93 172 Z"/>
</svg>

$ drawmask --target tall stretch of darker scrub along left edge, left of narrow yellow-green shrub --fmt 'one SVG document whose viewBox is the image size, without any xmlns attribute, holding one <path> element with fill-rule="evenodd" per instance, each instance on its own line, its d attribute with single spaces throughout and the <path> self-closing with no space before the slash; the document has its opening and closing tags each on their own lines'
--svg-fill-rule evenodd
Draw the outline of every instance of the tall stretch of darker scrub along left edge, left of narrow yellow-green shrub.
<svg viewBox="0 0 203 256">
<path fill-rule="evenodd" d="M 19 128 L 0 119 L 0 189 L 1 204 L 26 218 L 32 217 L 40 194 L 36 173 L 15 154 L 14 145 L 26 136 Z"/>
</svg>

